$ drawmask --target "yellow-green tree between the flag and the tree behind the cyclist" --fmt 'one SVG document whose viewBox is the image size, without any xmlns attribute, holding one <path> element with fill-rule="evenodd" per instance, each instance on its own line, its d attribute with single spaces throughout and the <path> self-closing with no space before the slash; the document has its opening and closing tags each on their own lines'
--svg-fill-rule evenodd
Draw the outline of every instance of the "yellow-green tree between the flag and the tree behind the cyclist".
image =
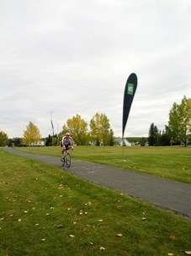
<svg viewBox="0 0 191 256">
<path fill-rule="evenodd" d="M 91 137 L 97 145 L 109 145 L 109 119 L 103 113 L 98 112 L 90 120 Z M 110 133 L 111 134 L 111 133 Z"/>
</svg>

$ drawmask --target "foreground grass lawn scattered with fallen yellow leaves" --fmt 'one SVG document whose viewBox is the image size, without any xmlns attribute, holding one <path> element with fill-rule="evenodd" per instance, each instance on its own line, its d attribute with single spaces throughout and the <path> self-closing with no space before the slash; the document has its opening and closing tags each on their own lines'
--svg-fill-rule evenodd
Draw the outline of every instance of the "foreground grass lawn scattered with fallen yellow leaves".
<svg viewBox="0 0 191 256">
<path fill-rule="evenodd" d="M 90 161 L 85 149 L 79 156 L 77 150 L 80 147 L 73 157 Z M 102 154 L 116 154 L 96 150 L 97 161 Z M 51 154 L 60 155 L 60 150 L 52 148 Z M 191 251 L 190 219 L 2 149 L 0 187 L 0 256 L 158 256 Z"/>
</svg>

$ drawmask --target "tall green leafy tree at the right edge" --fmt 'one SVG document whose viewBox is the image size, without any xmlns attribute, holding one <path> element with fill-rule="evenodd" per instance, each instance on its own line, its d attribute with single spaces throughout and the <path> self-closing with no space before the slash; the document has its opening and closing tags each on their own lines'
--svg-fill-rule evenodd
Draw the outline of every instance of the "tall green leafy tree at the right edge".
<svg viewBox="0 0 191 256">
<path fill-rule="evenodd" d="M 171 130 L 172 142 L 183 141 L 184 146 L 188 144 L 191 138 L 191 99 L 183 96 L 183 100 L 178 105 L 173 103 L 169 112 L 169 128 Z"/>
</svg>

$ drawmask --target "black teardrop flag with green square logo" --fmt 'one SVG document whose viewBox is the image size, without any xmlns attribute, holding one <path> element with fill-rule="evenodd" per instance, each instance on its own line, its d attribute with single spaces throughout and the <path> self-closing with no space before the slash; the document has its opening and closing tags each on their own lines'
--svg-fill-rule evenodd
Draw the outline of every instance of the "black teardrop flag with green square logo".
<svg viewBox="0 0 191 256">
<path fill-rule="evenodd" d="M 137 87 L 137 76 L 135 73 L 132 73 L 130 74 L 125 84 L 122 138 L 124 138 L 125 126 L 130 114 L 130 106 L 132 104 L 132 101 L 135 95 L 136 87 Z"/>
</svg>

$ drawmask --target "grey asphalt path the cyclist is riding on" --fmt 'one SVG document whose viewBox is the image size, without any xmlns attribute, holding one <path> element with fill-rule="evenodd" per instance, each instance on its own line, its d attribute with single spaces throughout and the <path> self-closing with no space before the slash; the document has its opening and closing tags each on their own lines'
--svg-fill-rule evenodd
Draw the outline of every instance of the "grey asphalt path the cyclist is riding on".
<svg viewBox="0 0 191 256">
<path fill-rule="evenodd" d="M 62 169 L 60 157 L 34 155 L 12 148 L 4 148 L 14 155 L 22 155 Z M 191 184 L 173 182 L 159 177 L 130 172 L 111 166 L 72 160 L 64 172 L 72 173 L 100 186 L 120 190 L 130 196 L 144 199 L 165 210 L 191 218 Z"/>
</svg>

